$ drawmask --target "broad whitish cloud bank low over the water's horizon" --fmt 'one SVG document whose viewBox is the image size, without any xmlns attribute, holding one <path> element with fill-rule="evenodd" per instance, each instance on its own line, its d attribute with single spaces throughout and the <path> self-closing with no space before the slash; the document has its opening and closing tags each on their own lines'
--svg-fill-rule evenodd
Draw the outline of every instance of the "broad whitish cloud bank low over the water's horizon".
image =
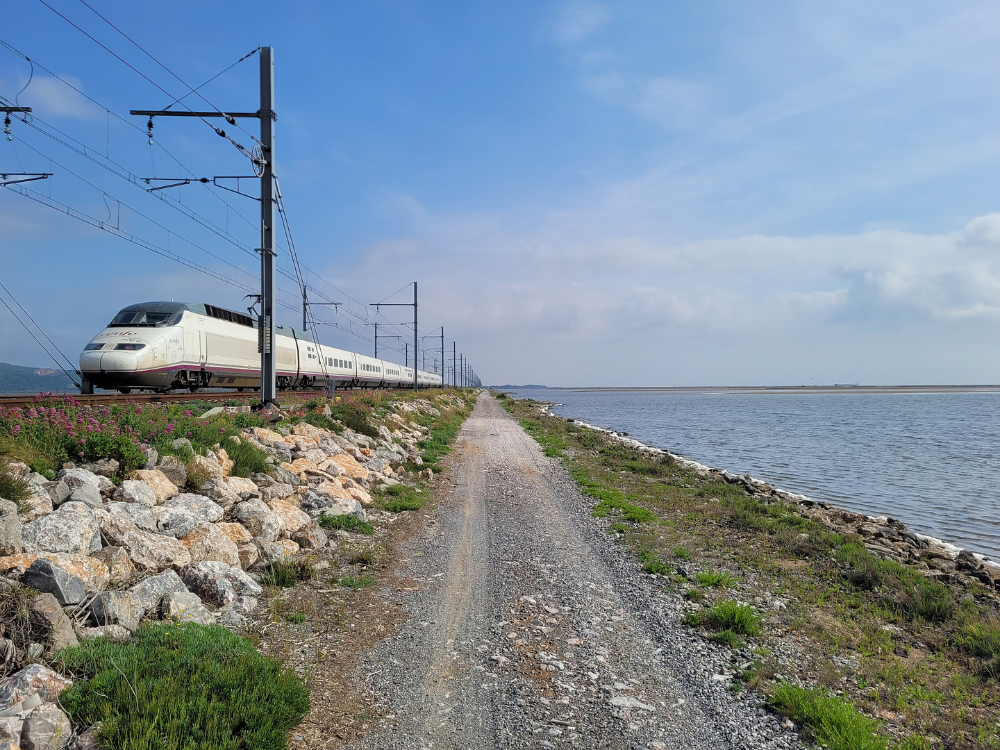
<svg viewBox="0 0 1000 750">
<path fill-rule="evenodd" d="M 1000 333 L 1000 214 L 940 235 L 873 230 L 673 243 L 559 242 L 558 234 L 548 226 L 515 235 L 497 217 L 427 212 L 406 239 L 374 246 L 340 271 L 348 286 L 374 285 L 372 293 L 384 291 L 387 269 L 393 279 L 418 278 L 422 325 L 443 324 L 491 382 L 513 382 L 519 371 L 526 380 L 621 383 L 590 363 L 629 352 L 643 352 L 649 372 L 628 382 L 676 382 L 659 373 L 671 372 L 678 357 L 691 360 L 687 382 L 734 382 L 696 364 L 730 349 L 743 352 L 760 382 L 790 382 L 776 362 L 794 361 L 793 352 L 854 367 L 861 342 L 879 336 L 892 343 L 868 354 L 864 367 L 878 373 L 870 377 L 913 382 L 923 378 L 900 369 L 901 350 L 932 362 L 971 330 Z M 971 357 L 964 377 L 942 370 L 927 378 L 976 380 L 972 360 L 989 356 Z M 797 370 L 792 381 L 810 376 Z"/>
</svg>

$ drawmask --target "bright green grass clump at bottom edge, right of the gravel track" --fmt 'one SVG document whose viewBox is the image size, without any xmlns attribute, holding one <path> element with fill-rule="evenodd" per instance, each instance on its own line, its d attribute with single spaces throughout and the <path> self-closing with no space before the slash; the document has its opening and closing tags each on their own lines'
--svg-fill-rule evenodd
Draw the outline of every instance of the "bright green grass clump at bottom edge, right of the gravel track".
<svg viewBox="0 0 1000 750">
<path fill-rule="evenodd" d="M 775 688 L 771 705 L 809 727 L 816 740 L 830 750 L 885 750 L 888 744 L 876 733 L 875 722 L 853 704 L 821 690 L 782 682 Z"/>
</svg>

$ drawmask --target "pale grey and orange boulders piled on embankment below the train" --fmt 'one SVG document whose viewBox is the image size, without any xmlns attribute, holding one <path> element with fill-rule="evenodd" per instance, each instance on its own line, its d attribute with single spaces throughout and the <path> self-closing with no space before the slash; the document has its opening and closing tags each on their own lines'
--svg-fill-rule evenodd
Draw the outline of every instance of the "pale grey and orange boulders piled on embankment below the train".
<svg viewBox="0 0 1000 750">
<path fill-rule="evenodd" d="M 458 405 L 451 398 L 437 397 Z M 428 429 L 414 413 L 440 415 L 428 399 L 390 402 L 378 437 L 305 421 L 245 428 L 236 441 L 269 464 L 250 477 L 233 476 L 219 446 L 186 463 L 148 449 L 145 468 L 117 484 L 113 459 L 64 464 L 53 480 L 10 463 L 31 494 L 20 508 L 0 498 L 0 590 L 42 592 L 30 606 L 48 623 L 50 651 L 83 638 L 127 640 L 144 620 L 245 626 L 269 564 L 336 546 L 320 516 L 364 521 L 376 485 L 417 478 L 405 467 L 422 464 L 417 444 Z M 184 438 L 175 447 L 191 450 Z M 0 680 L 0 748 L 64 747 L 71 736 L 56 699 L 72 682 L 40 664 L 10 674 L 42 650 L 25 654 L 0 638 L 0 674 L 8 673 Z"/>
</svg>

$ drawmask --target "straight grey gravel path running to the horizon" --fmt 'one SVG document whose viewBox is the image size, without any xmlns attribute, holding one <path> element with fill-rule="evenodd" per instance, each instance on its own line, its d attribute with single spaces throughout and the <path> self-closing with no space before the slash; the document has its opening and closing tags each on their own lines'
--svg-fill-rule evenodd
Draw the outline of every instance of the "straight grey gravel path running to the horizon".
<svg viewBox="0 0 1000 750">
<path fill-rule="evenodd" d="M 679 624 L 492 397 L 455 448 L 451 495 L 408 547 L 413 616 L 360 676 L 382 718 L 352 747 L 802 747 L 731 695 L 733 653 Z"/>
</svg>

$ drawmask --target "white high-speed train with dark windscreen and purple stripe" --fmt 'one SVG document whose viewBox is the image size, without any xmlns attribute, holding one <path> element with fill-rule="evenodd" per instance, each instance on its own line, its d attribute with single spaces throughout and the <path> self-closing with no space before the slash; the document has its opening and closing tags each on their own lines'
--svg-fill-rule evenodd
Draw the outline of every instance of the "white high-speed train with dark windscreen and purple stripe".
<svg viewBox="0 0 1000 750">
<path fill-rule="evenodd" d="M 335 349 L 287 326 L 274 326 L 277 387 L 411 388 L 413 370 L 394 362 Z M 133 389 L 260 388 L 257 321 L 221 307 L 184 302 L 129 305 L 80 353 L 80 372 L 92 387 Z M 417 371 L 422 388 L 442 378 Z"/>
</svg>

